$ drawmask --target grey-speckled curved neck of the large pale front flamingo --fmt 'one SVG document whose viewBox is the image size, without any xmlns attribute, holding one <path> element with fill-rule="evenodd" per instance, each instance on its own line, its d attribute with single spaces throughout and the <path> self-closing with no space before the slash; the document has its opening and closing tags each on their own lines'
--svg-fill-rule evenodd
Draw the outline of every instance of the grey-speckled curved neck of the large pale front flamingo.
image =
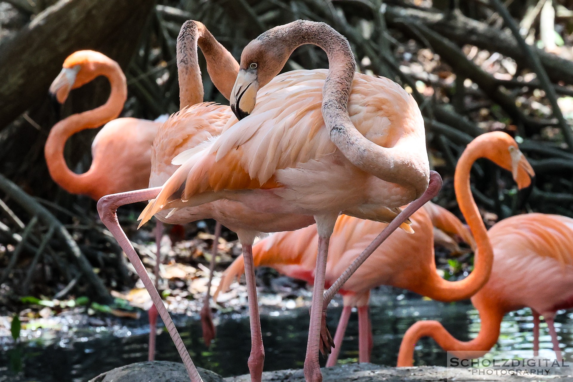
<svg viewBox="0 0 573 382">
<path fill-rule="evenodd" d="M 276 76 L 293 50 L 304 44 L 319 46 L 328 56 L 328 75 L 323 86 L 322 114 L 331 140 L 354 166 L 387 182 L 413 188 L 415 198 L 426 190 L 429 167 L 414 166 L 411 147 L 386 148 L 366 139 L 352 124 L 348 115 L 348 99 L 356 70 L 354 54 L 348 40 L 326 23 L 298 20 L 266 31 L 257 38 L 276 56 L 269 62 L 272 76 L 265 74 L 260 86 Z M 268 81 L 266 80 L 268 77 Z M 422 121 L 421 115 L 419 120 Z M 423 123 L 423 122 L 421 122 Z"/>
</svg>

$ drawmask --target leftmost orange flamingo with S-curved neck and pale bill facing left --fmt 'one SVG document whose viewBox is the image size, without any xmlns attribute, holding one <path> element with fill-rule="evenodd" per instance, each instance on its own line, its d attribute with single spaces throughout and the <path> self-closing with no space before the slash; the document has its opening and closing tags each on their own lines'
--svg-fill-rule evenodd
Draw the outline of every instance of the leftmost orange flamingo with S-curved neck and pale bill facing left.
<svg viewBox="0 0 573 382">
<path fill-rule="evenodd" d="M 117 62 L 93 50 L 70 54 L 62 71 L 50 85 L 50 93 L 63 104 L 70 90 L 79 88 L 96 77 L 105 76 L 111 85 L 107 102 L 90 111 L 74 114 L 52 127 L 44 147 L 48 171 L 54 182 L 70 194 L 87 195 L 98 200 L 101 196 L 147 187 L 151 173 L 151 146 L 166 117 L 155 121 L 117 118 L 127 98 L 127 82 Z M 105 125 L 104 125 L 105 124 Z M 77 132 L 98 128 L 92 143 L 92 165 L 84 174 L 75 174 L 64 159 L 66 141 Z M 159 279 L 160 242 L 163 224 L 157 220 L 155 282 Z M 154 359 L 157 311 L 151 308 L 148 359 Z"/>
</svg>

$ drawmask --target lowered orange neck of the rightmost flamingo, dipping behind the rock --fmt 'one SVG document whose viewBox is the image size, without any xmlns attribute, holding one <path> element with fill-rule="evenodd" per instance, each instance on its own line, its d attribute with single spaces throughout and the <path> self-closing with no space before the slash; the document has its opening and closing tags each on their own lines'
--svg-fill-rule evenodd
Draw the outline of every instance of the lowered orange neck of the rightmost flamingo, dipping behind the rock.
<svg viewBox="0 0 573 382">
<path fill-rule="evenodd" d="M 476 296 L 477 297 L 477 296 Z M 431 337 L 438 345 L 460 358 L 478 358 L 489 352 L 500 335 L 501 321 L 504 312 L 496 304 L 485 298 L 472 299 L 480 312 L 480 332 L 470 341 L 457 340 L 438 321 L 418 321 L 404 334 L 398 352 L 398 367 L 412 366 L 414 347 L 422 337 Z"/>
</svg>

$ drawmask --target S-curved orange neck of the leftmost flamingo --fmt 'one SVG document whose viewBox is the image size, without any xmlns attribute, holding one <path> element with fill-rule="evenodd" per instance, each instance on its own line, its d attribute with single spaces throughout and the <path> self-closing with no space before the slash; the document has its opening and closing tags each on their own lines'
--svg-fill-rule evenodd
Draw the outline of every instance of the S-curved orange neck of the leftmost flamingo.
<svg viewBox="0 0 573 382">
<path fill-rule="evenodd" d="M 64 147 L 70 136 L 85 129 L 93 129 L 116 119 L 127 99 L 127 82 L 120 66 L 113 60 L 92 62 L 93 78 L 107 77 L 111 93 L 105 104 L 93 110 L 78 113 L 61 120 L 50 130 L 44 147 L 48 171 L 54 182 L 71 194 L 83 194 L 98 199 L 95 191 L 97 175 L 92 167 L 84 174 L 75 174 L 68 168 L 64 158 Z"/>
</svg>

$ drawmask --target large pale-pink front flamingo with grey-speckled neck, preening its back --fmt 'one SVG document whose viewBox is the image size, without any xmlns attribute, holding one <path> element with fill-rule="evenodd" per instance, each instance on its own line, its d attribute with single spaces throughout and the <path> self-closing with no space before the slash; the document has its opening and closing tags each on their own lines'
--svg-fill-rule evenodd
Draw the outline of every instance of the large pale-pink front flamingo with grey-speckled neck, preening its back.
<svg viewBox="0 0 573 382">
<path fill-rule="evenodd" d="M 325 49 L 329 70 L 296 70 L 274 77 L 292 51 L 303 44 Z M 261 94 L 253 107 L 258 88 Z M 241 56 L 231 108 L 238 116 L 250 116 L 238 122 L 229 120 L 216 139 L 176 157 L 182 166 L 150 202 L 142 223 L 161 210 L 177 213 L 179 208 L 216 200 L 234 200 L 261 213 L 314 216 L 319 251 L 305 377 L 320 381 L 324 271 L 336 218 L 342 211 L 388 222 L 400 206 L 422 195 L 394 219 L 394 225 L 388 226 L 391 231 L 435 195 L 437 174 L 434 187 L 425 192 L 430 171 L 422 116 L 413 98 L 393 81 L 355 73 L 346 38 L 324 23 L 309 21 L 275 27 L 250 42 Z M 261 380 L 264 349 L 252 243 L 261 231 L 301 227 L 288 222 L 284 229 L 276 221 L 274 227 L 265 227 L 259 218 L 244 216 L 237 221 L 238 228 L 220 220 L 237 232 L 243 245 L 253 381 Z"/>
</svg>

